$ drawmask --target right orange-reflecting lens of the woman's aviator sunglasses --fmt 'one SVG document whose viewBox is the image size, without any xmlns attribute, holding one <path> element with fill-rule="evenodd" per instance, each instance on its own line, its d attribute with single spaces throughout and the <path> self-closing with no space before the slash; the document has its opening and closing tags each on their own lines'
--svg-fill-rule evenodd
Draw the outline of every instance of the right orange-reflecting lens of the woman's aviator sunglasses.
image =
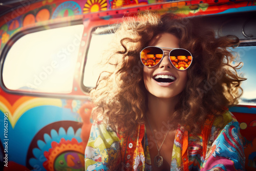
<svg viewBox="0 0 256 171">
<path fill-rule="evenodd" d="M 178 70 L 185 70 L 191 65 L 192 56 L 185 49 L 174 49 L 170 51 L 170 61 Z"/>
</svg>

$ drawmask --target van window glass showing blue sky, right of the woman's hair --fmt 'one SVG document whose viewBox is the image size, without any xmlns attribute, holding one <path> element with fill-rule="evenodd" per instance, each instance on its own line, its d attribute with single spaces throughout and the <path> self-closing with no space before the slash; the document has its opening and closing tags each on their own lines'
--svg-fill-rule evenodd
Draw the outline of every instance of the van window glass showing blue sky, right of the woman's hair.
<svg viewBox="0 0 256 171">
<path fill-rule="evenodd" d="M 240 61 L 244 63 L 240 72 L 242 72 L 243 76 L 247 78 L 247 80 L 242 82 L 244 92 L 239 104 L 256 105 L 256 47 L 238 47 L 232 51 L 237 52 L 240 57 Z"/>
</svg>

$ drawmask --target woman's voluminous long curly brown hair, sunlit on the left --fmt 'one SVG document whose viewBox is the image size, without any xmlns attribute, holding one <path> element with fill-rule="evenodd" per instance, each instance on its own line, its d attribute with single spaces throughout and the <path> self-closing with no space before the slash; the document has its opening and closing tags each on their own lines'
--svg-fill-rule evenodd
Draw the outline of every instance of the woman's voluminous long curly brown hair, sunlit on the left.
<svg viewBox="0 0 256 171">
<path fill-rule="evenodd" d="M 189 125 L 192 134 L 200 133 L 208 114 L 220 116 L 237 104 L 242 94 L 240 84 L 245 79 L 237 73 L 241 63 L 231 65 L 236 57 L 229 49 L 239 44 L 238 37 L 216 38 L 198 17 L 152 12 L 126 17 L 115 31 L 111 48 L 104 53 L 106 68 L 90 93 L 96 106 L 93 114 L 108 118 L 112 127 L 120 127 L 124 133 L 134 133 L 147 112 L 140 51 L 164 32 L 177 36 L 180 48 L 193 55 L 187 84 L 172 116 L 174 123 Z"/>
</svg>

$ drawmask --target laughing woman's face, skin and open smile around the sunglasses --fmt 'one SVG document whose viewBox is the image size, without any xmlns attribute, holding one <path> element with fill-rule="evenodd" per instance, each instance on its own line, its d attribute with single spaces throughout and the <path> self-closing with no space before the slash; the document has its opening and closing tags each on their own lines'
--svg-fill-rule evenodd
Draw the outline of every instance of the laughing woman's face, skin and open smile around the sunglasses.
<svg viewBox="0 0 256 171">
<path fill-rule="evenodd" d="M 154 37 L 148 46 L 157 46 L 162 48 L 179 48 L 179 39 L 170 33 L 161 33 Z M 157 66 L 153 68 L 143 68 L 143 79 L 146 90 L 159 98 L 173 98 L 179 95 L 185 88 L 187 82 L 187 70 L 179 71 L 168 56 L 171 49 L 163 49 L 164 57 Z M 166 82 L 158 82 L 156 76 L 168 76 Z M 165 81 L 164 80 L 164 81 Z"/>
</svg>

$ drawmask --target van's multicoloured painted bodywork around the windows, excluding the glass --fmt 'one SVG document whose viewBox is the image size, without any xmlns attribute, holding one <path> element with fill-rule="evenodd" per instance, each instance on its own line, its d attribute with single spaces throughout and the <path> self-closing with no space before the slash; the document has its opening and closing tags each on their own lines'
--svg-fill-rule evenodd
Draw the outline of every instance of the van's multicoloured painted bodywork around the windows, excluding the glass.
<svg viewBox="0 0 256 171">
<path fill-rule="evenodd" d="M 5 87 L 2 79 L 1 170 L 2 168 L 4 170 L 84 170 L 83 153 L 93 122 L 91 116 L 93 104 L 88 92 L 82 88 L 81 71 L 87 62 L 85 56 L 90 46 L 91 30 L 98 26 L 116 23 L 123 16 L 132 16 L 144 10 L 172 12 L 183 17 L 206 16 L 256 11 L 256 1 L 31 0 L 21 3 L 19 7 L 3 15 L 0 12 L 1 78 L 3 78 L 2 71 L 7 53 L 19 39 L 19 35 L 64 27 L 63 25 L 72 26 L 75 22 L 84 26 L 82 37 L 78 42 L 79 50 L 76 54 L 78 57 L 74 61 L 75 71 L 70 92 L 11 91 Z M 47 41 L 41 43 L 46 44 Z M 63 51 L 63 53 L 69 52 Z M 39 61 L 35 57 L 35 61 L 37 60 Z M 256 168 L 255 105 L 238 105 L 230 111 L 240 121 L 241 134 L 244 136 L 246 169 L 254 170 Z M 5 167 L 5 164 L 8 164 L 8 167 Z"/>
</svg>

